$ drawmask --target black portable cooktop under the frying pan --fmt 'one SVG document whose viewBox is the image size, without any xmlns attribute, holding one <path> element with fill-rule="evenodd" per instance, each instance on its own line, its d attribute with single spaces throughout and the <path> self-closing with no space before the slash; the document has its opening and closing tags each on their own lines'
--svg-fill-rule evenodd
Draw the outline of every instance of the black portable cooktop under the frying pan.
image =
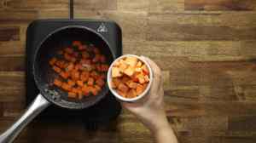
<svg viewBox="0 0 256 143">
<path fill-rule="evenodd" d="M 122 33 L 119 26 L 108 20 L 35 20 L 28 26 L 26 31 L 26 104 L 29 105 L 35 99 L 39 90 L 33 80 L 32 60 L 35 50 L 38 49 L 39 43 L 52 31 L 65 26 L 86 26 L 93 31 L 101 34 L 113 49 L 116 57 L 122 54 Z M 70 111 L 58 106 L 49 106 L 39 117 L 51 118 L 73 118 L 80 117 L 84 120 L 85 125 L 91 126 L 96 123 L 108 123 L 118 117 L 121 111 L 119 102 L 110 92 L 107 96 L 88 109 L 80 111 Z"/>
</svg>

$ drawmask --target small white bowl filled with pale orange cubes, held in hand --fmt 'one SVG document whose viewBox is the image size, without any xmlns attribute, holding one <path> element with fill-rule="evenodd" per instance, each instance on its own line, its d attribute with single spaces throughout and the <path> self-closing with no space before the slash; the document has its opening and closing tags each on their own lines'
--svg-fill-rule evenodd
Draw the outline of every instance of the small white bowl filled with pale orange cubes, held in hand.
<svg viewBox="0 0 256 143">
<path fill-rule="evenodd" d="M 108 69 L 108 87 L 122 101 L 136 101 L 148 93 L 153 73 L 147 61 L 134 54 L 114 60 Z"/>
</svg>

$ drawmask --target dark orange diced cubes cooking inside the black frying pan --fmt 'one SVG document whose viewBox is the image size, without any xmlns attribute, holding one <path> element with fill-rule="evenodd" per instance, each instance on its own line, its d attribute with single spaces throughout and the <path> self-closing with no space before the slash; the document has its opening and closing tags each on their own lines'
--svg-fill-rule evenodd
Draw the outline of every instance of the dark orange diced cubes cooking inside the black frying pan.
<svg viewBox="0 0 256 143">
<path fill-rule="evenodd" d="M 109 67 L 100 49 L 80 41 L 73 41 L 70 47 L 59 50 L 49 59 L 49 66 L 59 76 L 50 85 L 78 100 L 100 93 Z"/>
</svg>

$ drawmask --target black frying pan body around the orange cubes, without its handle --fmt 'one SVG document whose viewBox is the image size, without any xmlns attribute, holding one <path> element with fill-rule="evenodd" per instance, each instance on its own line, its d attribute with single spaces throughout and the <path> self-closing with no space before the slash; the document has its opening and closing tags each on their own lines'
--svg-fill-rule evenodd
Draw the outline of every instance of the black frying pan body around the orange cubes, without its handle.
<svg viewBox="0 0 256 143">
<path fill-rule="evenodd" d="M 67 98 L 67 92 L 61 89 L 50 86 L 54 77 L 57 76 L 49 66 L 49 59 L 56 56 L 56 51 L 67 48 L 72 45 L 72 41 L 79 40 L 84 43 L 92 43 L 101 50 L 107 58 L 108 65 L 113 61 L 113 53 L 111 52 L 108 43 L 94 31 L 90 31 L 85 27 L 66 27 L 49 35 L 36 52 L 34 60 L 34 78 L 41 94 L 57 106 L 68 109 L 84 109 L 96 104 L 99 100 L 108 93 L 108 85 L 105 84 L 102 91 L 96 96 L 90 95 L 82 100 L 71 100 Z"/>
</svg>

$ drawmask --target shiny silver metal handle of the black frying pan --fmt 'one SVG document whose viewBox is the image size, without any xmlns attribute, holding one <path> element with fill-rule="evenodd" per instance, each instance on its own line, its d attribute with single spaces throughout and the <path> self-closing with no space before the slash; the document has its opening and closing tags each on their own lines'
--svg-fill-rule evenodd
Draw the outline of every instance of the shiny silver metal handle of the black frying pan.
<svg viewBox="0 0 256 143">
<path fill-rule="evenodd" d="M 49 101 L 45 100 L 42 94 L 38 94 L 37 98 L 26 109 L 26 112 L 9 129 L 0 135 L 0 143 L 13 142 L 18 134 L 20 134 L 20 131 L 49 105 Z"/>
</svg>

